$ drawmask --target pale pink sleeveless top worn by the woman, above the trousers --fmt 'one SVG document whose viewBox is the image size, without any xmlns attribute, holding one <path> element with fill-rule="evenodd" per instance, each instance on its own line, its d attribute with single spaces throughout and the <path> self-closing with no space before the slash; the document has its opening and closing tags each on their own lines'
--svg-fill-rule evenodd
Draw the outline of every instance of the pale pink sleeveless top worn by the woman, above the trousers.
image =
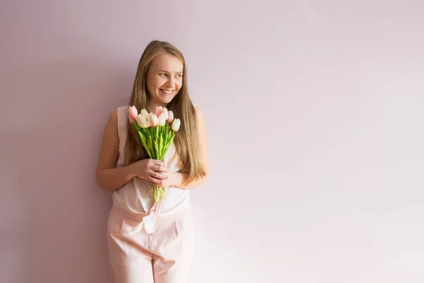
<svg viewBox="0 0 424 283">
<path fill-rule="evenodd" d="M 117 108 L 117 127 L 119 136 L 118 168 L 122 167 L 122 163 L 124 163 L 128 108 L 129 106 L 127 105 Z M 175 151 L 175 145 L 172 142 L 165 154 L 165 157 L 163 158 L 163 162 L 165 163 L 166 168 L 168 168 L 171 172 L 178 172 L 180 168 L 177 166 L 177 161 L 178 156 Z M 146 179 L 139 177 L 132 178 L 128 183 L 112 192 L 113 206 L 136 214 L 147 214 L 153 207 L 153 189 L 151 194 L 147 195 L 150 186 L 151 183 Z M 182 202 L 188 202 L 189 200 L 189 190 L 172 186 L 167 187 L 166 192 L 167 196 L 163 201 L 163 206 L 161 207 L 160 212 L 166 212 L 177 207 L 179 204 L 182 204 Z"/>
</svg>

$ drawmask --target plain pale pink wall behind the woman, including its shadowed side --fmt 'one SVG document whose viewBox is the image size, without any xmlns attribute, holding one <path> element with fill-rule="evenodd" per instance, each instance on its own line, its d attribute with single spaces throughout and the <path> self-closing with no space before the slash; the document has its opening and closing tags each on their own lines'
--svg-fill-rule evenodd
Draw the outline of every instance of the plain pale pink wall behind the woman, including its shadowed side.
<svg viewBox="0 0 424 283">
<path fill-rule="evenodd" d="M 424 282 L 424 4 L 344 2 L 3 1 L 0 282 L 112 282 L 95 165 L 152 39 L 208 125 L 192 282 Z"/>
</svg>

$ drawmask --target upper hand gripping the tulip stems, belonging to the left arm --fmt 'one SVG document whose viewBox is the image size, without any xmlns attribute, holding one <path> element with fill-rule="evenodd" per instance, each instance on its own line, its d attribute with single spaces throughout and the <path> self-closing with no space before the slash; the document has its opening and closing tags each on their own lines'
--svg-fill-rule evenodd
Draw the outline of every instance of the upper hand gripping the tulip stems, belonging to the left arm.
<svg viewBox="0 0 424 283">
<path fill-rule="evenodd" d="M 167 179 L 167 175 L 163 173 L 169 172 L 169 169 L 165 167 L 165 163 L 151 158 L 141 159 L 131 163 L 129 166 L 133 175 L 151 181 L 155 185 L 161 185 L 162 180 Z"/>
</svg>

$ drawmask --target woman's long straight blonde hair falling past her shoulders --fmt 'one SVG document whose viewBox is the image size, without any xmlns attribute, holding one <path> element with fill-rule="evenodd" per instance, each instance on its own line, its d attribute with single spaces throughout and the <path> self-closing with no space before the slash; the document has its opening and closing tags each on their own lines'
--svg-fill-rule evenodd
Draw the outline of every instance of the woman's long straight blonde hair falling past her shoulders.
<svg viewBox="0 0 424 283">
<path fill-rule="evenodd" d="M 196 115 L 187 87 L 187 66 L 182 52 L 177 47 L 169 42 L 158 40 L 153 40 L 147 45 L 139 61 L 129 105 L 135 105 L 138 110 L 147 108 L 150 99 L 147 88 L 148 69 L 151 67 L 152 60 L 163 53 L 171 54 L 183 63 L 182 86 L 177 96 L 167 104 L 167 109 L 172 110 L 174 117 L 178 117 L 181 120 L 181 127 L 175 135 L 174 144 L 179 159 L 179 166 L 182 168 L 181 171 L 188 173 L 187 183 L 191 183 L 193 180 L 204 177 L 206 173 L 199 158 Z M 127 121 L 126 130 L 128 134 L 124 149 L 125 165 L 143 158 L 149 158 L 146 150 L 141 146 L 139 136 L 134 127 L 129 123 L 129 120 Z"/>
</svg>

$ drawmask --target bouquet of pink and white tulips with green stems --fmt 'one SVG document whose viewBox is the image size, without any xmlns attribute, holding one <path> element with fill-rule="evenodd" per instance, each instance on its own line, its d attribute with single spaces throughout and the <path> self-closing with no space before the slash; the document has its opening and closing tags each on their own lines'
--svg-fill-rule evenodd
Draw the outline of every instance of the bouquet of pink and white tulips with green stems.
<svg viewBox="0 0 424 283">
<path fill-rule="evenodd" d="M 163 161 L 181 121 L 174 119 L 172 111 L 168 111 L 167 108 L 162 106 L 156 107 L 155 113 L 149 113 L 146 109 L 142 109 L 139 114 L 137 108 L 133 105 L 129 107 L 128 117 L 129 122 L 136 128 L 141 144 L 146 149 L 148 156 Z M 172 125 L 170 126 L 171 122 Z M 148 191 L 148 195 L 153 188 L 153 201 L 157 204 L 165 199 L 166 190 L 164 187 L 153 185 Z"/>
</svg>

